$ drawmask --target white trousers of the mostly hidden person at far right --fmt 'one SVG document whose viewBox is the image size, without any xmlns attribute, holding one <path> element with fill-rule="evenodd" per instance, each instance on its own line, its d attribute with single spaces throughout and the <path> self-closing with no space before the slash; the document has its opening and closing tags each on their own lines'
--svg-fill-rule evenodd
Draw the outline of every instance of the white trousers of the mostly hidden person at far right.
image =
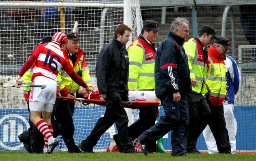
<svg viewBox="0 0 256 161">
<path fill-rule="evenodd" d="M 226 121 L 226 128 L 228 130 L 229 141 L 231 145 L 231 153 L 236 153 L 236 131 L 237 124 L 236 119 L 234 118 L 234 104 L 223 104 L 224 108 L 224 117 Z M 210 130 L 209 125 L 203 131 L 204 139 L 206 142 L 206 146 L 209 150 L 209 154 L 217 154 L 219 151 L 217 150 L 217 145 L 215 138 L 213 137 L 213 133 Z"/>
</svg>

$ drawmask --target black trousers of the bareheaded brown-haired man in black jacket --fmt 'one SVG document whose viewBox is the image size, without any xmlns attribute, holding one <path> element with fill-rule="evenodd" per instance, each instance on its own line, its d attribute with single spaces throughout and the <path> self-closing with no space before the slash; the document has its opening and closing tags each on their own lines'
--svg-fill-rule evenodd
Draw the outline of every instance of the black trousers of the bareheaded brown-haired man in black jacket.
<svg viewBox="0 0 256 161">
<path fill-rule="evenodd" d="M 118 131 L 118 138 L 123 147 L 123 153 L 135 151 L 134 146 L 132 146 L 132 138 L 128 133 L 128 117 L 124 110 L 121 93 L 117 91 L 108 91 L 105 100 L 106 111 L 104 117 L 101 117 L 97 121 L 90 135 L 81 142 L 82 146 L 86 147 L 88 150 L 92 150 L 102 134 L 115 123 Z"/>
</svg>

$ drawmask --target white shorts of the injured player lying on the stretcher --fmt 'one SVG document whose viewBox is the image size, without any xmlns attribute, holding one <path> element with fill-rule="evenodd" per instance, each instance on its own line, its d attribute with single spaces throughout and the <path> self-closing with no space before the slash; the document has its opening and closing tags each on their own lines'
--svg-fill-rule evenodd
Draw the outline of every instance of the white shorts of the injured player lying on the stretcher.
<svg viewBox="0 0 256 161">
<path fill-rule="evenodd" d="M 129 91 L 128 100 L 155 102 L 156 93 L 155 91 Z"/>
</svg>

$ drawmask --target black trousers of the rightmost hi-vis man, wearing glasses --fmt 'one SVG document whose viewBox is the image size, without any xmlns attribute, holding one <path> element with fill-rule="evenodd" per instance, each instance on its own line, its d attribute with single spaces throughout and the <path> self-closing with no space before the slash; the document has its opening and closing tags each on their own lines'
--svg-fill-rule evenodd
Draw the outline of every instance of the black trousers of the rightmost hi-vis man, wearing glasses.
<svg viewBox="0 0 256 161">
<path fill-rule="evenodd" d="M 212 115 L 208 123 L 213 137 L 216 140 L 219 153 L 231 153 L 231 146 L 226 129 L 226 121 L 224 118 L 223 104 L 220 106 L 209 104 Z"/>
</svg>

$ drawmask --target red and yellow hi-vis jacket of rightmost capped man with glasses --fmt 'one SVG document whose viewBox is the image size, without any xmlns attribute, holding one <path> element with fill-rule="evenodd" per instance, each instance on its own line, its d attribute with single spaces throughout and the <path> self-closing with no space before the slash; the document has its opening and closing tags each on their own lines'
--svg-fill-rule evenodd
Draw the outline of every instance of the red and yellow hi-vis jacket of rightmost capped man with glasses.
<svg viewBox="0 0 256 161">
<path fill-rule="evenodd" d="M 228 87 L 227 76 L 228 72 L 224 60 L 226 60 L 226 55 L 221 58 L 221 54 L 213 47 L 213 44 L 208 50 L 208 71 L 206 76 L 206 84 L 211 91 L 211 104 L 220 106 L 225 100 Z"/>
</svg>

